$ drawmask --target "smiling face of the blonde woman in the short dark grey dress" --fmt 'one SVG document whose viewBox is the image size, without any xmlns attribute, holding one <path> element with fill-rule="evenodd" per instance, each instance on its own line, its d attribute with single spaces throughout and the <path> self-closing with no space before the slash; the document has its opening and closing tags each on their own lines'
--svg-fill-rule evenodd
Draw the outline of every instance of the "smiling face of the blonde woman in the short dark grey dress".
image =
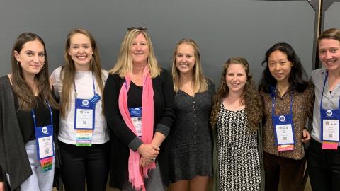
<svg viewBox="0 0 340 191">
<path fill-rule="evenodd" d="M 195 50 L 193 46 L 182 43 L 176 50 L 176 68 L 181 74 L 193 74 L 195 66 Z"/>
</svg>

